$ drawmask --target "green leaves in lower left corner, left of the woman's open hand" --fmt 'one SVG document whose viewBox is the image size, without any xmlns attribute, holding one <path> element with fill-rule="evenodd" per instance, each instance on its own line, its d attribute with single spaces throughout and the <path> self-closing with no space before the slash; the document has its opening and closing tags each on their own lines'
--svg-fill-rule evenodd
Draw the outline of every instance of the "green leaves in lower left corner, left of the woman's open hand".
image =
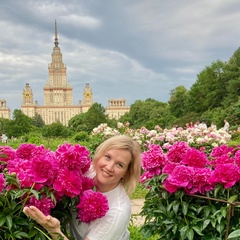
<svg viewBox="0 0 240 240">
<path fill-rule="evenodd" d="M 36 229 L 36 223 L 22 212 L 27 199 L 31 196 L 39 198 L 41 193 L 32 188 L 21 189 L 14 174 L 9 175 L 4 172 L 4 175 L 6 184 L 12 185 L 14 188 L 3 190 L 0 195 L 0 239 L 47 239 Z M 49 195 L 51 194 L 49 192 Z M 39 226 L 39 228 L 41 227 Z"/>
</svg>

